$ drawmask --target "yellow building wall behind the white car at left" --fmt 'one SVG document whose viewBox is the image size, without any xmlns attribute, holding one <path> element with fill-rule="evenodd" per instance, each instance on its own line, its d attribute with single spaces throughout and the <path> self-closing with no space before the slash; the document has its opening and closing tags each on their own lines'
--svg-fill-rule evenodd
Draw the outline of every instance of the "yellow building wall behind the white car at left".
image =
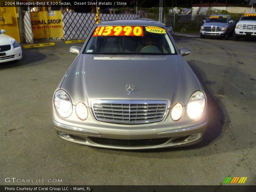
<svg viewBox="0 0 256 192">
<path fill-rule="evenodd" d="M 0 29 L 20 43 L 19 17 L 17 7 L 0 7 Z"/>
</svg>

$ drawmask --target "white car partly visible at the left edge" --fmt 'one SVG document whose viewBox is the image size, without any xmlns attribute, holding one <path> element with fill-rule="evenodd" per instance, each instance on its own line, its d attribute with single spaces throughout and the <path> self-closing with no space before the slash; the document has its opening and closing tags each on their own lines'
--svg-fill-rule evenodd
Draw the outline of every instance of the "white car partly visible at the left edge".
<svg viewBox="0 0 256 192">
<path fill-rule="evenodd" d="M 22 58 L 22 50 L 20 44 L 8 35 L 4 35 L 5 30 L 0 32 L 0 63 L 20 60 Z"/>
</svg>

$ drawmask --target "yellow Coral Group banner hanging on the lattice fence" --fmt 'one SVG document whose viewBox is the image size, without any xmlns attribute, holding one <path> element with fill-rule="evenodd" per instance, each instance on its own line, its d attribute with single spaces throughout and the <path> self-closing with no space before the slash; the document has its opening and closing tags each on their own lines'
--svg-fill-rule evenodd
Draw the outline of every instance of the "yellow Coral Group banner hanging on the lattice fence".
<svg viewBox="0 0 256 192">
<path fill-rule="evenodd" d="M 63 37 L 61 11 L 30 12 L 34 38 Z"/>
</svg>

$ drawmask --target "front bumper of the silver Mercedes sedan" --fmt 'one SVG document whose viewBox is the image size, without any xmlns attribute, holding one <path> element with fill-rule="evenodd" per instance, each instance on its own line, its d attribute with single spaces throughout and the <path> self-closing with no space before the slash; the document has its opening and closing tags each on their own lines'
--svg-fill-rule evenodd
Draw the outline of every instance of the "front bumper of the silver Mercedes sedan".
<svg viewBox="0 0 256 192">
<path fill-rule="evenodd" d="M 99 122 L 89 115 L 89 119 L 85 120 L 88 123 L 78 125 L 58 118 L 54 108 L 53 112 L 52 123 L 60 140 L 112 149 L 150 149 L 191 145 L 202 140 L 208 119 L 206 112 L 204 112 L 198 124 L 191 124 L 191 126 L 177 125 L 173 128 L 167 123 L 170 121 L 168 117 L 162 122 L 120 125 Z M 170 115 L 168 114 L 167 116 Z M 198 134 L 198 137 L 189 140 L 189 137 L 194 134 Z"/>
</svg>

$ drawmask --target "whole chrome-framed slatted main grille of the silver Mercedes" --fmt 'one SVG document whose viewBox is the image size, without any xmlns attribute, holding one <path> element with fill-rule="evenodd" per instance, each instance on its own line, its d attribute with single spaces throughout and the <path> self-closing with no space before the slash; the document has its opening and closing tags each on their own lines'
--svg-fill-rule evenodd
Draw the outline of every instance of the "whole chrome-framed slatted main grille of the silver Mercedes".
<svg viewBox="0 0 256 192">
<path fill-rule="evenodd" d="M 168 109 L 163 100 L 94 100 L 92 111 L 99 121 L 143 124 L 161 121 Z"/>
</svg>

